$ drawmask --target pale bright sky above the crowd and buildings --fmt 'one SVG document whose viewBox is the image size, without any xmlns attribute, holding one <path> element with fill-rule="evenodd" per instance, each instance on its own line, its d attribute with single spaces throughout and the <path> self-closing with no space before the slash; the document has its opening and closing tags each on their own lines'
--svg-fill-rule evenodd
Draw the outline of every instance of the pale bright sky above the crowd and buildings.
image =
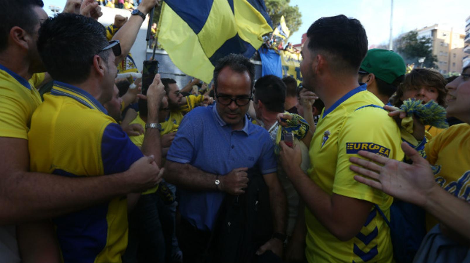
<svg viewBox="0 0 470 263">
<path fill-rule="evenodd" d="M 63 8 L 65 2 L 44 0 L 44 9 L 52 15 L 49 5 Z M 388 44 L 391 0 L 290 0 L 290 5 L 299 7 L 303 22 L 288 40 L 294 44 L 301 42 L 302 34 L 315 20 L 341 14 L 360 20 L 366 29 L 369 46 Z M 435 23 L 463 33 L 469 15 L 468 0 L 393 0 L 392 35 L 395 38 Z"/>
</svg>

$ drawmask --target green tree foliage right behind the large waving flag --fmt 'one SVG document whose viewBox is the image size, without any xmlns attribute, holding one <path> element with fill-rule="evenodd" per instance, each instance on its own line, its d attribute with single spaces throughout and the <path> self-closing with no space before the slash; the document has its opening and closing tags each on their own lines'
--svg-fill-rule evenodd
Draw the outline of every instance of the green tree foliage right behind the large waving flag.
<svg viewBox="0 0 470 263">
<path fill-rule="evenodd" d="M 292 35 L 302 24 L 302 14 L 298 6 L 292 7 L 289 2 L 290 0 L 265 0 L 267 13 L 273 21 L 273 26 L 276 27 L 281 21 L 281 16 L 284 15 L 286 25 Z"/>
</svg>

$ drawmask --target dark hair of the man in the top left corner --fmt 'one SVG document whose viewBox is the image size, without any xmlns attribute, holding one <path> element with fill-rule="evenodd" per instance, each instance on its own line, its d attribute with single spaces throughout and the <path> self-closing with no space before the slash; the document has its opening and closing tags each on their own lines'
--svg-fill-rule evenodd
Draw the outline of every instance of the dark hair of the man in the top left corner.
<svg viewBox="0 0 470 263">
<path fill-rule="evenodd" d="M 0 0 L 0 52 L 8 46 L 8 35 L 14 26 L 33 33 L 39 18 L 34 7 L 44 7 L 42 0 Z"/>
</svg>

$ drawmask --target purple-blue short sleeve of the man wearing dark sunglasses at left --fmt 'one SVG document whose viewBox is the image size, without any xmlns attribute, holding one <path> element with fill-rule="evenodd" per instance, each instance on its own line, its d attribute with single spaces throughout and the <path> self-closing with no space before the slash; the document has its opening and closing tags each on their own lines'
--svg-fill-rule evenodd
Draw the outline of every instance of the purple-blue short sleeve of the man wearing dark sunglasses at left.
<svg viewBox="0 0 470 263">
<path fill-rule="evenodd" d="M 104 129 L 101 140 L 101 156 L 104 174 L 123 172 L 143 155 L 118 124 L 111 123 Z"/>
</svg>

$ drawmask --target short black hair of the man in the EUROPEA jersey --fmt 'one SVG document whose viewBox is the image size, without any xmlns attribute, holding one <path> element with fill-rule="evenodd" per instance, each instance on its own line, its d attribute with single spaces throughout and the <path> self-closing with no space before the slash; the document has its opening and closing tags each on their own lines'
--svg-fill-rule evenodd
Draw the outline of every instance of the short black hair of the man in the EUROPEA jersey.
<svg viewBox="0 0 470 263">
<path fill-rule="evenodd" d="M 367 54 L 368 42 L 359 20 L 345 15 L 322 17 L 307 31 L 308 49 L 332 56 L 329 61 L 336 70 L 359 71 Z"/>
</svg>

